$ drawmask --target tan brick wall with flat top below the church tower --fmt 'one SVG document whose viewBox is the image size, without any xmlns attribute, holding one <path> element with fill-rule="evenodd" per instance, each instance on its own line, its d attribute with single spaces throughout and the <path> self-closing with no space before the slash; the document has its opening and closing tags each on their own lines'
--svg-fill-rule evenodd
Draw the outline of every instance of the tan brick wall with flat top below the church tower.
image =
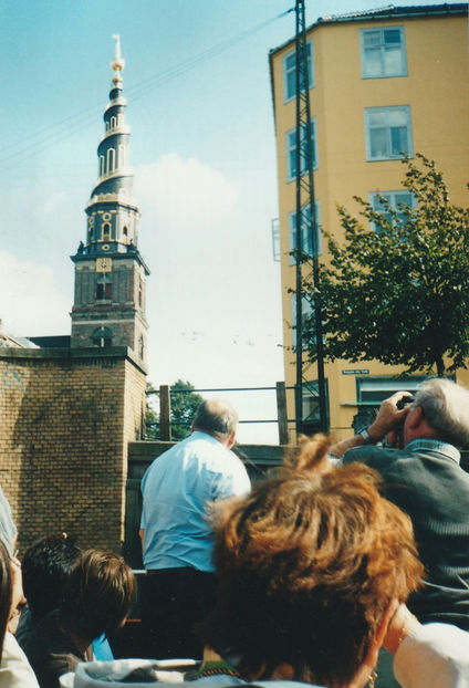
<svg viewBox="0 0 469 688">
<path fill-rule="evenodd" d="M 0 350 L 0 482 L 20 551 L 61 530 L 119 551 L 145 384 L 126 347 Z"/>
</svg>

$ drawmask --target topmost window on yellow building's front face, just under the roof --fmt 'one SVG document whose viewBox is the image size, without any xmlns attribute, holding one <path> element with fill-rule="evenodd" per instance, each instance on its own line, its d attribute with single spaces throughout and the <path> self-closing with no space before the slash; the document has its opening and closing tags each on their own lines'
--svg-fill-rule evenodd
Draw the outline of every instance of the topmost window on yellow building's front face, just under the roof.
<svg viewBox="0 0 469 688">
<path fill-rule="evenodd" d="M 407 76 L 403 27 L 362 29 L 362 76 Z"/>
</svg>

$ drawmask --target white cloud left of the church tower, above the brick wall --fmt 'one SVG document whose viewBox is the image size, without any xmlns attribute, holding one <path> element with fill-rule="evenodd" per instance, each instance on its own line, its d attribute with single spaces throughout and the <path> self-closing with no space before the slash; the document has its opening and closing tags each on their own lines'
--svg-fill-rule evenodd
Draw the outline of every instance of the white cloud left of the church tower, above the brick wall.
<svg viewBox="0 0 469 688">
<path fill-rule="evenodd" d="M 69 334 L 70 299 L 59 291 L 52 268 L 0 251 L 0 317 L 8 332 Z"/>
</svg>

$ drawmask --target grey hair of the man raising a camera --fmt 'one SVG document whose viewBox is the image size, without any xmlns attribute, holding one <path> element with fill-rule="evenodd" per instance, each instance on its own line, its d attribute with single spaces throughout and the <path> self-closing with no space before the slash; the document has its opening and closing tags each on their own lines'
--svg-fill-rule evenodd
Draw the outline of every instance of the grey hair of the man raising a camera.
<svg viewBox="0 0 469 688">
<path fill-rule="evenodd" d="M 469 445 L 469 390 L 441 377 L 427 379 L 417 390 L 414 406 L 420 406 L 428 425 L 440 439 L 457 447 Z"/>
</svg>

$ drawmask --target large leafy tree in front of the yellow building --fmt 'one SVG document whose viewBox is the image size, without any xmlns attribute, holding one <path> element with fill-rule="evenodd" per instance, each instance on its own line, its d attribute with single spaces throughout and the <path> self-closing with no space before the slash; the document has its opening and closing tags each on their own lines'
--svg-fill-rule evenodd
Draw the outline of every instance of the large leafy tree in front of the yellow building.
<svg viewBox="0 0 469 688">
<path fill-rule="evenodd" d="M 381 196 L 378 212 L 354 197 L 366 226 L 338 207 L 345 240 L 323 232 L 331 263 L 319 291 L 305 280 L 304 295 L 321 304 L 326 359 L 376 358 L 440 376 L 469 356 L 469 211 L 450 204 L 435 161 L 416 154 L 403 163 L 415 207 L 396 210 Z M 311 315 L 304 331 L 314 361 Z"/>
</svg>

